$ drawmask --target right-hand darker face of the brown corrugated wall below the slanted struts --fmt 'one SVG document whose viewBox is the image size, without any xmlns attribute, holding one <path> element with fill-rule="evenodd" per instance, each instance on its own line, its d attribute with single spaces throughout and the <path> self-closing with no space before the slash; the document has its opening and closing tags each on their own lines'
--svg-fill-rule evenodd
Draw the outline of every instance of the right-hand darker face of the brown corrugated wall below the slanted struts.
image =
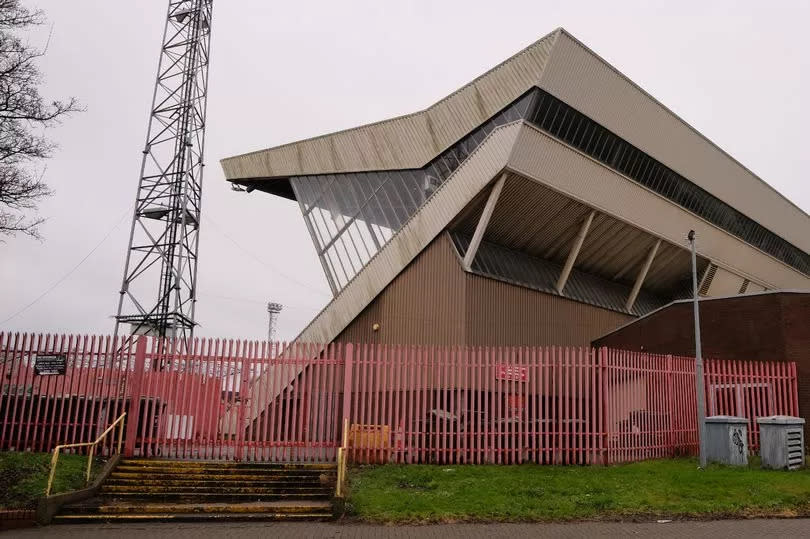
<svg viewBox="0 0 810 539">
<path fill-rule="evenodd" d="M 634 317 L 468 274 L 466 344 L 584 345 Z"/>
</svg>

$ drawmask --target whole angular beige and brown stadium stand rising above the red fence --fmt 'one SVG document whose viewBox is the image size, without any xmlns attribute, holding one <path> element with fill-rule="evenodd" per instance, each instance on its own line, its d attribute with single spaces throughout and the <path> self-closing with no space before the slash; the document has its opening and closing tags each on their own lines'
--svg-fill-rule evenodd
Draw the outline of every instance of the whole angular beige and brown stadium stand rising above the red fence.
<svg viewBox="0 0 810 539">
<path fill-rule="evenodd" d="M 741 116 L 741 121 L 744 116 Z M 297 201 L 308 342 L 587 344 L 700 294 L 810 289 L 810 218 L 563 29 L 427 109 L 230 157 Z"/>
</svg>

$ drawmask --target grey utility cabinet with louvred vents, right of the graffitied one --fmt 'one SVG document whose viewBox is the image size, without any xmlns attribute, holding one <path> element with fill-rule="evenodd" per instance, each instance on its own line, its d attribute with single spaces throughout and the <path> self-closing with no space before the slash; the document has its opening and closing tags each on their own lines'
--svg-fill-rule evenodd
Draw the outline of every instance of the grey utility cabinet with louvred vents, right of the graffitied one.
<svg viewBox="0 0 810 539">
<path fill-rule="evenodd" d="M 757 419 L 762 467 L 798 470 L 804 466 L 804 418 L 772 415 Z"/>
</svg>

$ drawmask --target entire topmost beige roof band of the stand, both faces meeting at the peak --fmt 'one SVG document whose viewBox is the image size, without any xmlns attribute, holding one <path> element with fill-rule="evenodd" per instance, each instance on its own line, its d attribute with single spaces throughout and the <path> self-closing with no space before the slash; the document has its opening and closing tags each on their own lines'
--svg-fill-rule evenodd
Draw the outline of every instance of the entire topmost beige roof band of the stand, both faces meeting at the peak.
<svg viewBox="0 0 810 539">
<path fill-rule="evenodd" d="M 221 164 L 228 181 L 285 198 L 294 198 L 290 176 L 418 168 L 533 86 L 810 252 L 807 213 L 563 29 L 423 111 Z"/>
</svg>

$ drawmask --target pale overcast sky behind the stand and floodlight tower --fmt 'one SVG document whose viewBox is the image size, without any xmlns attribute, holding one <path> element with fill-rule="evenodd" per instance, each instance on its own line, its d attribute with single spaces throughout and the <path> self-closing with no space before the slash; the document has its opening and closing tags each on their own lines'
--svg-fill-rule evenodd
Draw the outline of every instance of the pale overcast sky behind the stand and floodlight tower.
<svg viewBox="0 0 810 539">
<path fill-rule="evenodd" d="M 166 0 L 26 3 L 53 24 L 44 93 L 87 112 L 52 132 L 45 241 L 0 244 L 0 330 L 108 333 Z M 297 205 L 232 192 L 219 159 L 422 109 L 558 26 L 809 211 L 808 21 L 804 0 L 216 0 L 198 334 L 261 338 L 272 299 L 289 339 L 329 299 Z"/>
</svg>

